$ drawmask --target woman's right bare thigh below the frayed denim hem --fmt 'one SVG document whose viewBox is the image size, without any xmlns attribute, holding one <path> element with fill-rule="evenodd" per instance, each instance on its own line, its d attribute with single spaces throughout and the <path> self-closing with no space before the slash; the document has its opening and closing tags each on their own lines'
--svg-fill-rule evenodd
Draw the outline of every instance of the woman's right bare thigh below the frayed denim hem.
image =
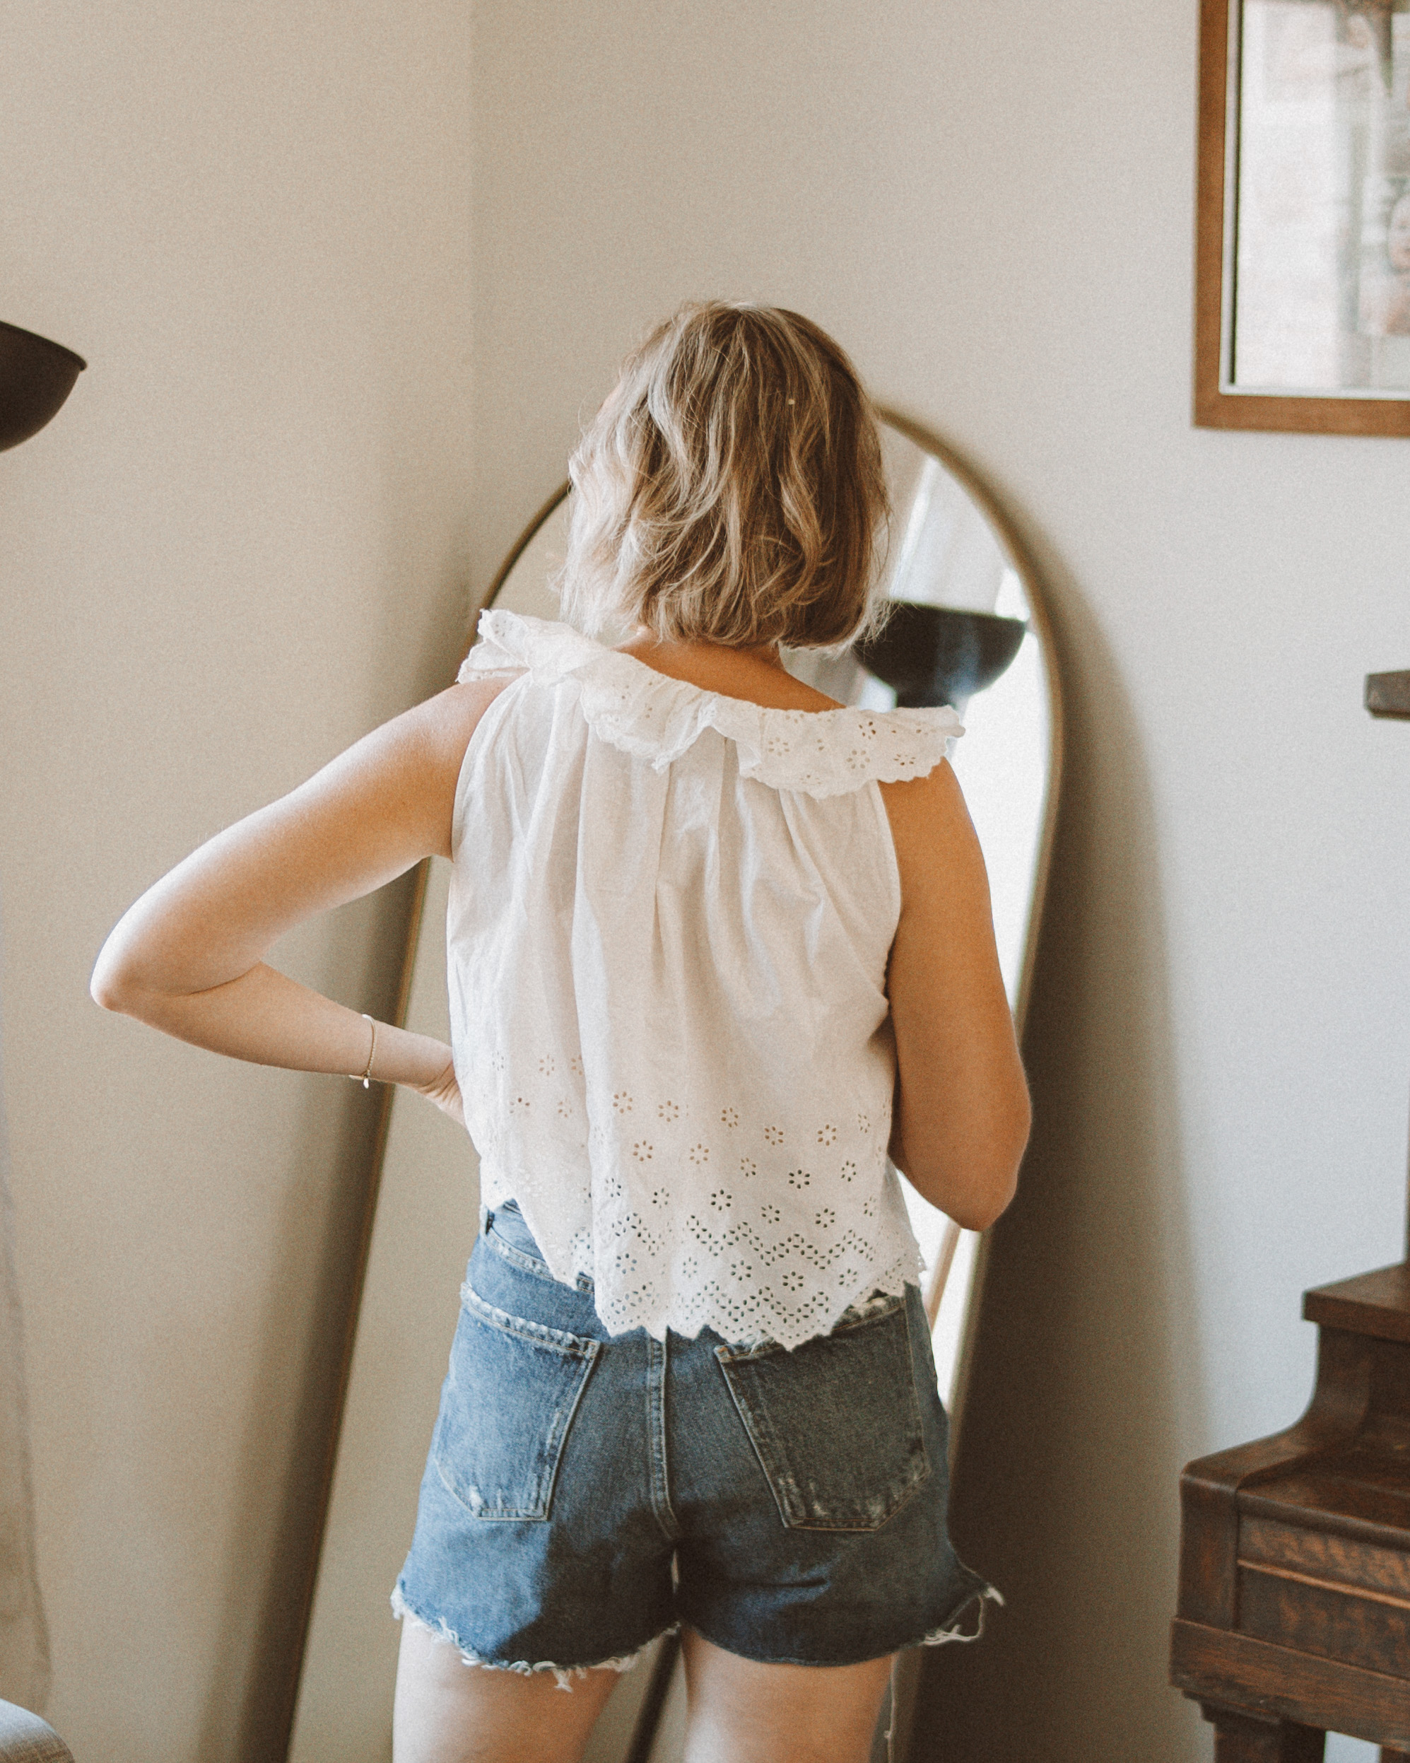
<svg viewBox="0 0 1410 1763">
<path fill-rule="evenodd" d="M 682 1627 L 686 1763 L 867 1763 L 892 1661 L 756 1664 Z"/>
</svg>

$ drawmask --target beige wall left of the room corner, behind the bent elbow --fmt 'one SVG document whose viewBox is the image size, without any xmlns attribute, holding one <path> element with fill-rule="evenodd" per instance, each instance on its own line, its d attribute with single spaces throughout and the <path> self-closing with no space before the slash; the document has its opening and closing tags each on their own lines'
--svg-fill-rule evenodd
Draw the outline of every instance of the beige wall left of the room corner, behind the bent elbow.
<svg viewBox="0 0 1410 1763">
<path fill-rule="evenodd" d="M 0 317 L 88 356 L 0 458 L 5 1075 L 49 1715 L 268 1754 L 372 1097 L 102 1015 L 192 844 L 441 684 L 469 522 L 460 0 L 0 23 Z M 377 926 L 293 940 L 386 1007 Z M 382 938 L 384 940 L 384 938 Z"/>
</svg>

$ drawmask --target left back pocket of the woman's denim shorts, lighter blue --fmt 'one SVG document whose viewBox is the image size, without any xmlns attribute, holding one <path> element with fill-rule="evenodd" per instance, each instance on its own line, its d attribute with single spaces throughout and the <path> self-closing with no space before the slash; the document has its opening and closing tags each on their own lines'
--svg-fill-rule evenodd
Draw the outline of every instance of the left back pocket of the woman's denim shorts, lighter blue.
<svg viewBox="0 0 1410 1763">
<path fill-rule="evenodd" d="M 546 1518 L 599 1342 L 495 1310 L 469 1285 L 432 1439 L 435 1470 L 476 1518 Z"/>
</svg>

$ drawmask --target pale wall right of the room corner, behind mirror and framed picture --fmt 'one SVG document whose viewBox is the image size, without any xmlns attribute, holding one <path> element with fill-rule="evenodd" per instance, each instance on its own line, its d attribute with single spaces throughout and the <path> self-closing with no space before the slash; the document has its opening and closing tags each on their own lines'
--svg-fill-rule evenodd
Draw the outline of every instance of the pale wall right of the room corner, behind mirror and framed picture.
<svg viewBox="0 0 1410 1763">
<path fill-rule="evenodd" d="M 1198 7 L 485 5 L 483 582 L 687 294 L 793 305 L 1036 552 L 1070 783 L 957 1530 L 1008 1592 L 934 1754 L 1183 1763 L 1184 1458 L 1302 1405 L 1302 1287 L 1399 1255 L 1406 443 L 1190 427 Z M 941 1738 L 948 1749 L 941 1752 Z"/>
</svg>

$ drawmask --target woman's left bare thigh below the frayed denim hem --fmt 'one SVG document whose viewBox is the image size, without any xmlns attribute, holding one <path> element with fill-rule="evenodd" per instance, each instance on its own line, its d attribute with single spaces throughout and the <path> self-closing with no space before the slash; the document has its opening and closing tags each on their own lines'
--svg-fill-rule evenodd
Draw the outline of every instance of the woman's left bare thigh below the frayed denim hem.
<svg viewBox="0 0 1410 1763">
<path fill-rule="evenodd" d="M 575 1677 L 564 1691 L 552 1671 L 486 1671 L 418 1622 L 402 1622 L 393 1759 L 576 1763 L 617 1680 L 605 1668 Z"/>
</svg>

